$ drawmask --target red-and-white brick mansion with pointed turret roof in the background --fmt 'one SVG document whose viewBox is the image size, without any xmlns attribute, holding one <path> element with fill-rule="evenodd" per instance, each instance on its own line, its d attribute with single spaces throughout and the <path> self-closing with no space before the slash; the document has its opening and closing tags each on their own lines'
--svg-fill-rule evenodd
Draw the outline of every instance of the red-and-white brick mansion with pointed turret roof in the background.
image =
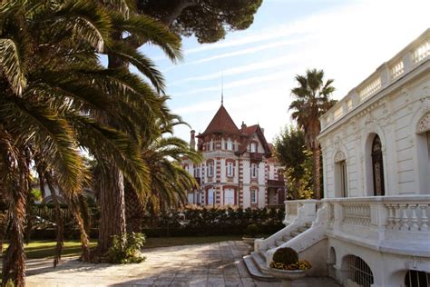
<svg viewBox="0 0 430 287">
<path fill-rule="evenodd" d="M 200 184 L 188 193 L 188 203 L 258 208 L 283 205 L 283 169 L 271 155 L 259 124 L 240 129 L 221 102 L 220 109 L 202 134 L 191 131 L 190 145 L 203 154 L 203 163 L 183 161 Z"/>
</svg>

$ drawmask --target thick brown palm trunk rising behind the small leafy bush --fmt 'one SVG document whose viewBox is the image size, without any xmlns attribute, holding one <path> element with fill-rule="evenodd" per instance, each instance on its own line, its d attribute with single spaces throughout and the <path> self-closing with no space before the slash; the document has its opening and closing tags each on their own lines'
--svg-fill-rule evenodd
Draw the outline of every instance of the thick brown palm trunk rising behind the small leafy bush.
<svg viewBox="0 0 430 287">
<path fill-rule="evenodd" d="M 96 255 L 103 260 L 112 246 L 112 237 L 125 235 L 124 181 L 122 173 L 114 165 L 102 168 L 98 180 L 100 204 L 99 242 Z"/>
</svg>

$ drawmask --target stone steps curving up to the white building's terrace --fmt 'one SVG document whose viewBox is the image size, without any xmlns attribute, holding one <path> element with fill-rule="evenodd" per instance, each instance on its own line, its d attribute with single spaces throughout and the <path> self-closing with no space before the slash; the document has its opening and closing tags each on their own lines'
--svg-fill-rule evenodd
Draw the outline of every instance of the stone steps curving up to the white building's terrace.
<svg viewBox="0 0 430 287">
<path fill-rule="evenodd" d="M 294 237 L 298 236 L 300 233 L 306 232 L 311 226 L 311 223 L 305 223 L 302 226 L 279 236 L 272 244 L 269 244 L 265 248 L 261 248 L 257 251 L 251 252 L 249 255 L 243 257 L 249 273 L 251 276 L 257 280 L 261 281 L 278 281 L 275 277 L 270 275 L 269 268 L 267 267 L 267 253 L 269 250 L 278 248 L 279 246 L 287 243 Z"/>
</svg>

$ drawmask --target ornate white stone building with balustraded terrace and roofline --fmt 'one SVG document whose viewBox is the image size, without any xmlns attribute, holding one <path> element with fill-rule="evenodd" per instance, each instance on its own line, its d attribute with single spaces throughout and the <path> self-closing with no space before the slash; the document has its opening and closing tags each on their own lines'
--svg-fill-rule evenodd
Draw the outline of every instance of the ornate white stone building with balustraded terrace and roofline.
<svg viewBox="0 0 430 287">
<path fill-rule="evenodd" d="M 280 235 L 313 222 L 281 245 L 310 259 L 310 274 L 346 286 L 428 286 L 430 30 L 320 120 L 325 199 L 316 219 L 304 219 L 315 202 L 286 202 L 288 226 L 256 249 L 269 262 Z"/>
</svg>

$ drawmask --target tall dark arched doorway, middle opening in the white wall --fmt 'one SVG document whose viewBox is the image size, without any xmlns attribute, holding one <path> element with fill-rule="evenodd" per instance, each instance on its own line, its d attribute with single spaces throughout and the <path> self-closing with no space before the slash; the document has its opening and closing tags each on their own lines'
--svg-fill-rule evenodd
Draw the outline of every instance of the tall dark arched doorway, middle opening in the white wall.
<svg viewBox="0 0 430 287">
<path fill-rule="evenodd" d="M 376 134 L 372 142 L 372 171 L 374 195 L 386 195 L 381 139 Z"/>
</svg>

